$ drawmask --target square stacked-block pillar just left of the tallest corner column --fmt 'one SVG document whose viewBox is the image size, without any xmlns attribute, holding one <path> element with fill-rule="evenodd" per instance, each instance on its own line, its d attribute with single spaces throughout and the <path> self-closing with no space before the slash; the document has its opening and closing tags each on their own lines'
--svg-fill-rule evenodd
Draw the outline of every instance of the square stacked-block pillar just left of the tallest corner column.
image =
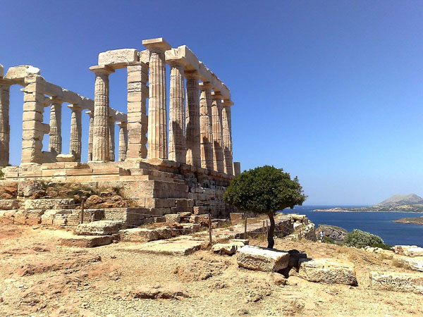
<svg viewBox="0 0 423 317">
<path fill-rule="evenodd" d="M 128 72 L 128 159 L 147 157 L 148 65 L 129 63 Z M 119 158 L 119 161 L 121 159 Z"/>
</svg>

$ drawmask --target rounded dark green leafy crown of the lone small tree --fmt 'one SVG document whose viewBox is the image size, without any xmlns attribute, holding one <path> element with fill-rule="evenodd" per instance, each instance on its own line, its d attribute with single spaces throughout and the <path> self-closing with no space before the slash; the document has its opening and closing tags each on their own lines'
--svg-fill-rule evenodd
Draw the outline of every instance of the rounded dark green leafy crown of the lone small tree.
<svg viewBox="0 0 423 317">
<path fill-rule="evenodd" d="M 302 205 L 303 194 L 298 178 L 291 180 L 282 168 L 262 166 L 236 176 L 223 194 L 226 203 L 243 211 L 275 213 Z"/>
</svg>

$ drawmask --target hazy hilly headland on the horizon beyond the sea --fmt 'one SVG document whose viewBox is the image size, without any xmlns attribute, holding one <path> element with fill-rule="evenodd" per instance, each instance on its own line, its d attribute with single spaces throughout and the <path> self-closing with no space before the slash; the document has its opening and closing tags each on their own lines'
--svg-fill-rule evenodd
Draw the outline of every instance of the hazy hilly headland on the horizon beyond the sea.
<svg viewBox="0 0 423 317">
<path fill-rule="evenodd" d="M 351 212 L 412 212 L 423 213 L 423 198 L 416 194 L 408 195 L 394 195 L 384 201 L 381 201 L 375 206 L 355 207 L 355 208 L 331 208 L 331 209 L 314 209 L 313 211 L 326 211 L 336 213 L 351 213 Z"/>
</svg>

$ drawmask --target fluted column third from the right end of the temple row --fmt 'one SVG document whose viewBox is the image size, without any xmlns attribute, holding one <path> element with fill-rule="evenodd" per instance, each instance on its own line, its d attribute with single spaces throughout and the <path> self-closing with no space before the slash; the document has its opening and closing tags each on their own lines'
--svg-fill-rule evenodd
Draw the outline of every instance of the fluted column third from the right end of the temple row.
<svg viewBox="0 0 423 317">
<path fill-rule="evenodd" d="M 200 152 L 201 167 L 213 170 L 212 85 L 200 83 Z"/>
</svg>

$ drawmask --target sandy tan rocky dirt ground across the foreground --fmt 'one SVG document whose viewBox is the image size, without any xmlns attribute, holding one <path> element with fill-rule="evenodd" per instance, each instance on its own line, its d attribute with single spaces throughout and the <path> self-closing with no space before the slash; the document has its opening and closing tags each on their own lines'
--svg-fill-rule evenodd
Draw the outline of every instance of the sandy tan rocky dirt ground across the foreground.
<svg viewBox="0 0 423 317">
<path fill-rule="evenodd" d="M 422 316 L 422 296 L 369 288 L 370 271 L 404 271 L 360 249 L 276 240 L 309 257 L 353 261 L 357 287 L 238 268 L 235 256 L 63 247 L 60 232 L 0 225 L 0 316 Z M 259 240 L 250 244 L 264 245 Z"/>
</svg>

